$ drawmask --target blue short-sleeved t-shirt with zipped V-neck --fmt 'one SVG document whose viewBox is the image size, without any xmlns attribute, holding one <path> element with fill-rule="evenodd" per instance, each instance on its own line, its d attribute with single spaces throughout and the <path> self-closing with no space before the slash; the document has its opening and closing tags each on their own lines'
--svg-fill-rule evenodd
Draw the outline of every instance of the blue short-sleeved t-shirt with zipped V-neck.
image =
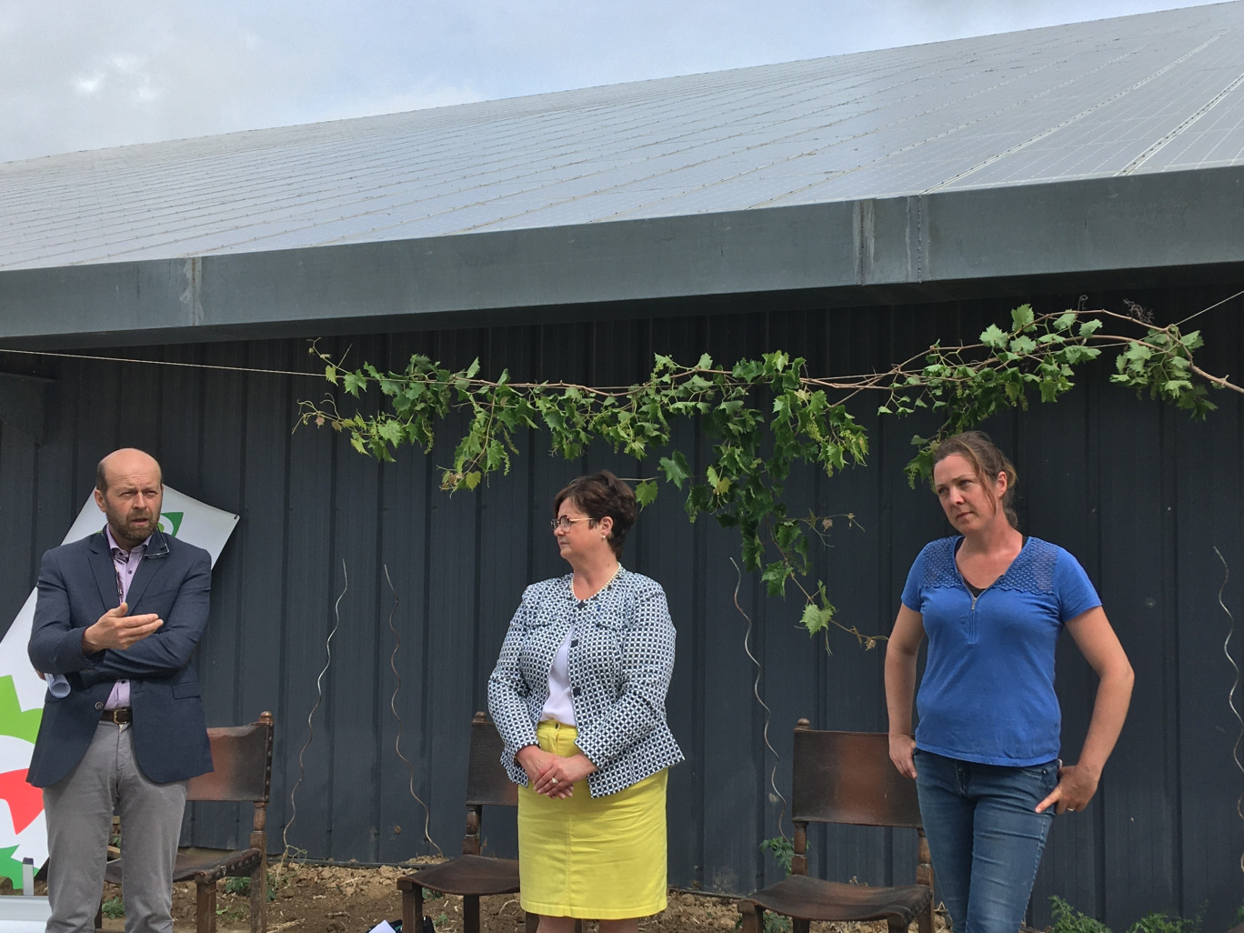
<svg viewBox="0 0 1244 933">
<path fill-rule="evenodd" d="M 1051 761 L 1062 724 L 1054 647 L 1101 600 L 1075 557 L 1037 537 L 974 597 L 954 562 L 962 540 L 927 544 L 903 587 L 929 639 L 916 746 L 988 765 Z"/>
</svg>

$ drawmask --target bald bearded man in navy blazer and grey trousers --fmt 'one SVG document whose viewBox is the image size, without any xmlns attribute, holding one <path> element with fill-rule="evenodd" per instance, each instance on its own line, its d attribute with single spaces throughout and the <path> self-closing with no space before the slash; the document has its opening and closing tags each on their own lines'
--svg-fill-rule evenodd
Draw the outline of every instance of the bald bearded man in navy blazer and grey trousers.
<svg viewBox="0 0 1244 933">
<path fill-rule="evenodd" d="M 26 780 L 44 789 L 47 933 L 86 933 L 121 816 L 127 933 L 173 928 L 173 862 L 187 781 L 211 770 L 190 661 L 208 621 L 211 561 L 159 530 L 159 464 L 142 450 L 96 470 L 98 532 L 53 547 L 39 571 L 30 659 L 70 692 L 45 699 Z"/>
</svg>

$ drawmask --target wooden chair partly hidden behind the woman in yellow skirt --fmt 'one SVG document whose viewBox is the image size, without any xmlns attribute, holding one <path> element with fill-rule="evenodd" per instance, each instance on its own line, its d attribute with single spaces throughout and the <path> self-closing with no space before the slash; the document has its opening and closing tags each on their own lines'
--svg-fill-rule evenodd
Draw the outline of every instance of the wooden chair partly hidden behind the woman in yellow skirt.
<svg viewBox="0 0 1244 933">
<path fill-rule="evenodd" d="M 470 720 L 470 755 L 466 763 L 466 835 L 463 853 L 448 862 L 420 868 L 397 880 L 402 892 L 402 929 L 423 929 L 423 888 L 463 898 L 463 933 L 479 933 L 479 898 L 513 894 L 519 889 L 519 863 L 514 858 L 480 855 L 480 825 L 485 806 L 518 806 L 519 787 L 501 766 L 501 736 L 485 713 Z M 536 932 L 536 916 L 526 914 L 527 933 Z"/>
</svg>

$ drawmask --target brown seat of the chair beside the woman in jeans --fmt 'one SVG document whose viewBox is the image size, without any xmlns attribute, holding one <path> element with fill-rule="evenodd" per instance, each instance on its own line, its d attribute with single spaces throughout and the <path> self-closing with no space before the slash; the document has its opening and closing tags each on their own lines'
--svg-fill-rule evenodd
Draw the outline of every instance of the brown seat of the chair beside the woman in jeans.
<svg viewBox="0 0 1244 933">
<path fill-rule="evenodd" d="M 928 907 L 933 891 L 927 884 L 868 887 L 791 875 L 748 897 L 766 911 L 805 921 L 888 921 L 911 923 Z M 739 909 L 743 908 L 740 902 Z"/>
</svg>

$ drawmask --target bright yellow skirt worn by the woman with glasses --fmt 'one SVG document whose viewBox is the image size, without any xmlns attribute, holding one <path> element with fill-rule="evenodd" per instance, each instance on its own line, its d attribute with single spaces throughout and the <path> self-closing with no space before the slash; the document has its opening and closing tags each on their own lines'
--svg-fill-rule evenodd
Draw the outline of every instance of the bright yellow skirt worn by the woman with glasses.
<svg viewBox="0 0 1244 933">
<path fill-rule="evenodd" d="M 573 755 L 575 726 L 545 722 L 540 748 Z M 547 917 L 621 921 L 666 909 L 666 771 L 592 797 L 519 787 L 519 901 Z"/>
</svg>

